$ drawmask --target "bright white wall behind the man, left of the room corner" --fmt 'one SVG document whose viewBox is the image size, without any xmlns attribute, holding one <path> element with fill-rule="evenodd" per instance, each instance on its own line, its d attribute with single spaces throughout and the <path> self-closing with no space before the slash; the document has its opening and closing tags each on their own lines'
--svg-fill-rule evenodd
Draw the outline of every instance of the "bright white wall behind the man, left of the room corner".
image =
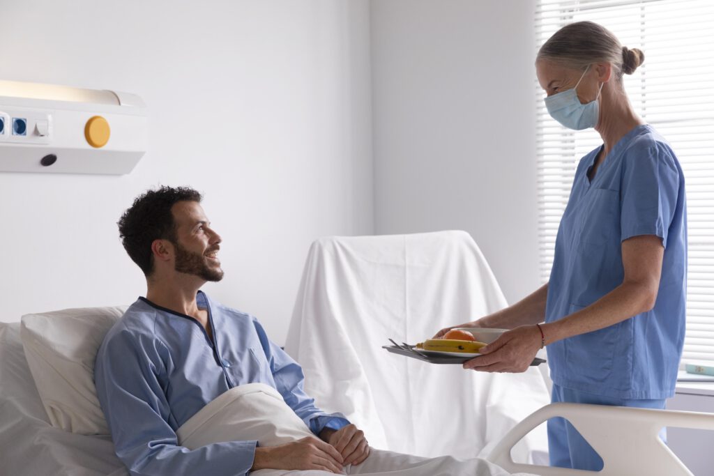
<svg viewBox="0 0 714 476">
<path fill-rule="evenodd" d="M 1 3 L 0 79 L 136 93 L 151 129 L 128 176 L 0 173 L 0 320 L 144 295 L 116 221 L 186 184 L 223 236 L 206 290 L 282 343 L 311 241 L 373 232 L 368 3 Z"/>
</svg>

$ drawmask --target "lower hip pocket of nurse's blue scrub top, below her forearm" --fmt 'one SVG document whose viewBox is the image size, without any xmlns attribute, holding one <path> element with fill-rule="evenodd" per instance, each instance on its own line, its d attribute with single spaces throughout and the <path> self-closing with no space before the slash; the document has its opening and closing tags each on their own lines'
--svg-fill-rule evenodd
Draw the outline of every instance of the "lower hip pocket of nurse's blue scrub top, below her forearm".
<svg viewBox="0 0 714 476">
<path fill-rule="evenodd" d="M 570 304 L 568 315 L 585 307 Z M 580 375 L 577 380 L 601 383 L 612 373 L 620 324 L 565 339 L 565 361 L 573 365 L 575 375 Z"/>
</svg>

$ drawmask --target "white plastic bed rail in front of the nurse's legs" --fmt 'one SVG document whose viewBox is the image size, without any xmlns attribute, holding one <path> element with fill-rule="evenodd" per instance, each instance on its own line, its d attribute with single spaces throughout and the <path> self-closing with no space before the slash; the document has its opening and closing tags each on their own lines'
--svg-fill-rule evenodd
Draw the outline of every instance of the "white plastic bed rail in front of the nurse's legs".
<svg viewBox="0 0 714 476">
<path fill-rule="evenodd" d="M 553 417 L 564 417 L 573 424 L 603 458 L 603 470 L 570 470 L 513 462 L 513 445 L 533 428 Z M 662 427 L 714 430 L 714 414 L 551 403 L 513 427 L 493 448 L 487 459 L 509 472 L 528 472 L 540 476 L 693 476 L 660 440 L 659 432 Z"/>
</svg>

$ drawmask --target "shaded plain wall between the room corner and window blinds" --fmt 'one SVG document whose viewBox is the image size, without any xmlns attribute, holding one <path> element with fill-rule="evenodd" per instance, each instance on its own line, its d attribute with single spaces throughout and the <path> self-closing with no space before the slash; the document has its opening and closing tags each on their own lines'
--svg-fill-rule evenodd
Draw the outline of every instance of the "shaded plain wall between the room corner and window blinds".
<svg viewBox="0 0 714 476">
<path fill-rule="evenodd" d="M 468 231 L 513 303 L 539 284 L 533 2 L 378 0 L 371 32 L 376 232 Z"/>
</svg>

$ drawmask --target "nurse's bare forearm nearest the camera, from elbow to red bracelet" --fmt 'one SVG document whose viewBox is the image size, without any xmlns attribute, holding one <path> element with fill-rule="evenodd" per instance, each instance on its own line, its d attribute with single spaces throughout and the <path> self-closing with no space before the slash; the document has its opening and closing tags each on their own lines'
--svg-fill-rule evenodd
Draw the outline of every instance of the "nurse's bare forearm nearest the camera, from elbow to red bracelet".
<svg viewBox="0 0 714 476">
<path fill-rule="evenodd" d="M 541 324 L 545 345 L 617 324 L 652 309 L 653 305 L 651 285 L 622 283 L 587 308 L 555 322 Z"/>
</svg>

